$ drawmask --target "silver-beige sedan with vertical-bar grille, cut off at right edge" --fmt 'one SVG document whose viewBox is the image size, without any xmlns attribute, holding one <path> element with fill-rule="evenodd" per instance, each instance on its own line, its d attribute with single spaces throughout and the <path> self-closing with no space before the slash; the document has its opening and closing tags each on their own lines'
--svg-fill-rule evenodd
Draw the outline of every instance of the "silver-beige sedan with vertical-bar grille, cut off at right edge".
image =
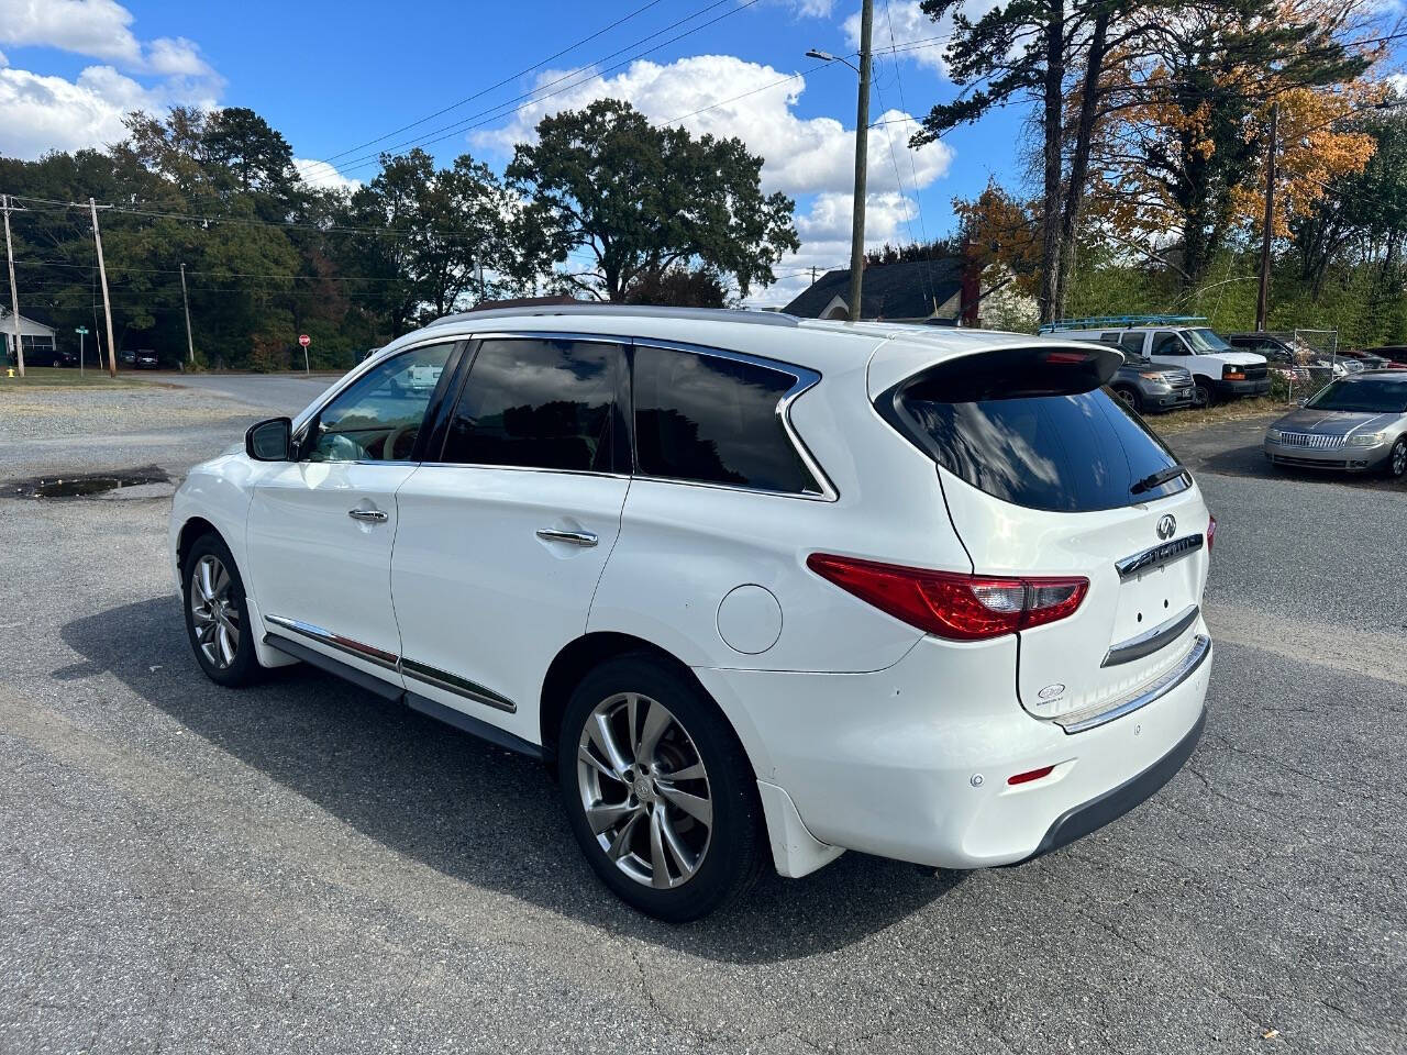
<svg viewBox="0 0 1407 1055">
<path fill-rule="evenodd" d="M 1276 466 L 1407 474 L 1407 370 L 1341 377 L 1265 430 Z"/>
</svg>

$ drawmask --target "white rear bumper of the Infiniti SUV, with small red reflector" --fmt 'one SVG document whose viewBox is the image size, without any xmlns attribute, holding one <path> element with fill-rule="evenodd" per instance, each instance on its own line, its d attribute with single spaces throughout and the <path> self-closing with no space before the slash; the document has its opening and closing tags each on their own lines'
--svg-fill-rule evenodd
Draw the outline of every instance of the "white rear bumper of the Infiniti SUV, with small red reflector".
<svg viewBox="0 0 1407 1055">
<path fill-rule="evenodd" d="M 1190 633 L 1206 634 L 1204 623 Z M 1014 670 L 1014 639 L 926 639 L 872 674 L 695 672 L 733 719 L 758 779 L 785 789 L 815 840 L 988 868 L 1078 838 L 1166 782 L 1196 744 L 1211 663 L 1074 734 L 1021 708 Z M 1045 778 L 1007 782 L 1047 765 Z"/>
</svg>

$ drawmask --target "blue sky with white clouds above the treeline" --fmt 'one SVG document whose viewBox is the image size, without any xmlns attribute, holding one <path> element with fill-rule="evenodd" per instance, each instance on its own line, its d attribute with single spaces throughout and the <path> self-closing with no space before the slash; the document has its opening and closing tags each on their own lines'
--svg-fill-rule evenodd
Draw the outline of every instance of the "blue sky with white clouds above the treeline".
<svg viewBox="0 0 1407 1055">
<path fill-rule="evenodd" d="M 854 51 L 857 10 L 850 0 L 433 0 L 402 7 L 0 0 L 0 152 L 34 158 L 100 145 L 120 135 L 120 114 L 134 107 L 245 106 L 287 136 L 307 177 L 366 180 L 376 166 L 360 162 L 364 155 L 411 143 L 442 162 L 467 151 L 501 167 L 543 114 L 623 96 L 653 120 L 682 118 L 695 132 L 739 135 L 765 158 L 768 188 L 796 198 L 803 248 L 778 269 L 782 281 L 751 300 L 784 302 L 806 284 L 812 266 L 841 264 L 847 256 L 855 76 L 840 63 L 815 69 L 805 52 Z M 519 76 L 618 18 L 625 21 Z M 871 120 L 889 121 L 870 139 L 875 243 L 946 234 L 954 196 L 978 193 L 991 176 L 1013 181 L 1023 118 L 1014 110 L 995 114 L 941 146 L 910 153 L 906 115 L 922 117 L 954 87 L 941 46 L 885 53 L 891 24 L 899 45 L 946 31 L 913 0 L 875 4 Z M 606 59 L 612 52 L 620 53 Z M 464 106 L 356 149 L 502 80 Z M 549 82 L 556 83 L 545 87 Z M 549 91 L 557 94 L 542 98 Z M 533 93 L 529 106 L 511 113 L 523 101 L 514 97 L 525 93 Z M 736 98 L 744 93 L 751 94 Z M 314 163 L 322 159 L 339 172 Z"/>
</svg>

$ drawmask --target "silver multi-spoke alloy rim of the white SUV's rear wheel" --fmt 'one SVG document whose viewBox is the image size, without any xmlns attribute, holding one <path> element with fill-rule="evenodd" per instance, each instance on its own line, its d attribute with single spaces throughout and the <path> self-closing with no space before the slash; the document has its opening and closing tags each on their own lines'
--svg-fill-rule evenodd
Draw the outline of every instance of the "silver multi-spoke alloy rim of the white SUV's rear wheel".
<svg viewBox="0 0 1407 1055">
<path fill-rule="evenodd" d="M 643 886 L 688 882 L 713 829 L 708 769 L 688 730 L 658 701 L 616 693 L 587 716 L 577 788 L 606 857 Z"/>
</svg>

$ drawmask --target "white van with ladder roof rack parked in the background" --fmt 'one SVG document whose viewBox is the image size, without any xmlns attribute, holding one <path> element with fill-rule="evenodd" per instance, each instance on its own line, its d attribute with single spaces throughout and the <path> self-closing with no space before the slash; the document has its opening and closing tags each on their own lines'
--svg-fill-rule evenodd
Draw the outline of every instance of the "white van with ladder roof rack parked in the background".
<svg viewBox="0 0 1407 1055">
<path fill-rule="evenodd" d="M 1221 399 L 1265 395 L 1271 391 L 1271 373 L 1265 356 L 1231 347 L 1207 326 L 1093 324 L 1096 319 L 1071 319 L 1054 329 L 1057 335 L 1068 336 L 1097 333 L 1104 343 L 1119 345 L 1126 356 L 1142 356 L 1154 363 L 1183 367 L 1192 373 L 1196 385 L 1195 407 L 1210 407 Z M 1041 329 L 1048 332 L 1051 328 Z"/>
</svg>

